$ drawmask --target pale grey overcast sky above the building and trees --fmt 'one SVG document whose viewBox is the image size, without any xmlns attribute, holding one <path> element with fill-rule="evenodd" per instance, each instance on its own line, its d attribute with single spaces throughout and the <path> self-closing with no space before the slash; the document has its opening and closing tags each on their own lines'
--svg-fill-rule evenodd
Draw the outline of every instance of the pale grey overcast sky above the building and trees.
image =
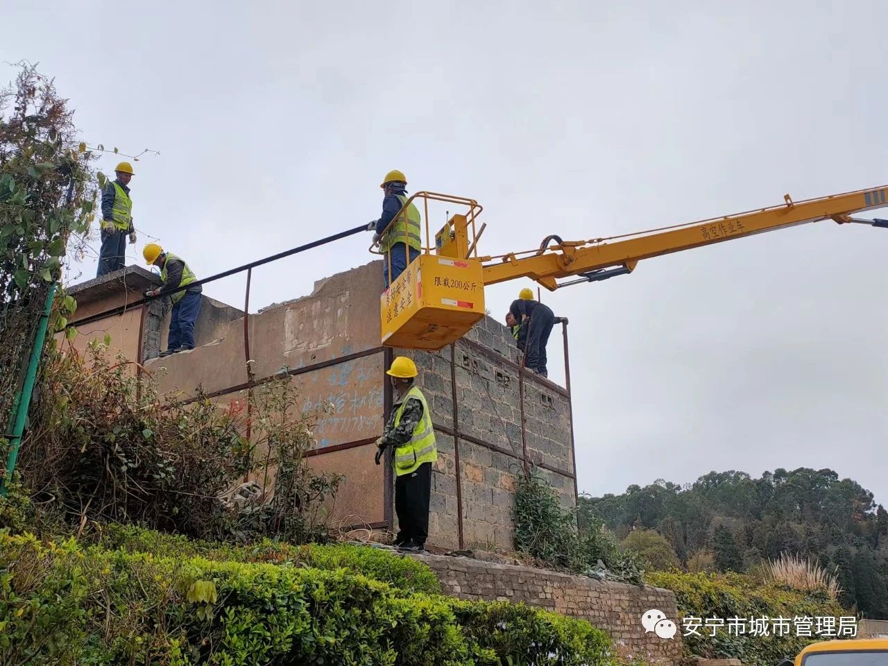
<svg viewBox="0 0 888 666">
<path fill-rule="evenodd" d="M 129 263 L 153 236 L 209 275 L 365 223 L 390 169 L 477 199 L 485 254 L 888 184 L 884 0 L 5 0 L 0 16 L 0 60 L 54 75 L 84 139 L 160 152 L 134 165 Z M 310 293 L 368 244 L 257 271 L 251 304 Z M 886 256 L 888 230 L 821 222 L 543 292 L 570 319 L 581 491 L 809 466 L 888 503 Z M 488 308 L 501 319 L 531 285 L 488 288 Z M 238 305 L 243 277 L 205 291 Z M 550 358 L 561 380 L 559 338 Z"/>
</svg>

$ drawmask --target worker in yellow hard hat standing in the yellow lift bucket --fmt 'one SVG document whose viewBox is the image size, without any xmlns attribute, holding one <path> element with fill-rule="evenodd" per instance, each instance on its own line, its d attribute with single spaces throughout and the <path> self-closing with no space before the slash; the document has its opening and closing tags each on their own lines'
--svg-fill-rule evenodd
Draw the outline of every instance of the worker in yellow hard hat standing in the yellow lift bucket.
<svg viewBox="0 0 888 666">
<path fill-rule="evenodd" d="M 367 226 L 368 231 L 376 232 L 373 242 L 378 242 L 379 251 L 384 253 L 385 289 L 419 256 L 423 248 L 422 217 L 413 202 L 407 204 L 406 186 L 407 177 L 403 172 L 391 170 L 385 174 L 380 185 L 385 191 L 382 217 L 372 220 Z M 401 212 L 405 204 L 407 210 Z"/>
</svg>

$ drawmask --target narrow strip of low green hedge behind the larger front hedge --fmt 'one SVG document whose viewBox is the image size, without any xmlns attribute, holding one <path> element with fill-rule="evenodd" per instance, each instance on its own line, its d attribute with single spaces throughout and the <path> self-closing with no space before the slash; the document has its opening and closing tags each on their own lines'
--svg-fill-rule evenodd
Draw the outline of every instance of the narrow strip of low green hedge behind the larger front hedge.
<svg viewBox="0 0 888 666">
<path fill-rule="evenodd" d="M 345 568 L 403 591 L 440 592 L 432 569 L 406 556 L 348 543 L 308 544 L 263 539 L 257 543 L 231 545 L 192 541 L 181 535 L 168 535 L 139 527 L 109 525 L 99 536 L 109 550 L 149 552 L 157 557 L 202 557 L 219 561 L 292 564 L 319 569 Z"/>
</svg>

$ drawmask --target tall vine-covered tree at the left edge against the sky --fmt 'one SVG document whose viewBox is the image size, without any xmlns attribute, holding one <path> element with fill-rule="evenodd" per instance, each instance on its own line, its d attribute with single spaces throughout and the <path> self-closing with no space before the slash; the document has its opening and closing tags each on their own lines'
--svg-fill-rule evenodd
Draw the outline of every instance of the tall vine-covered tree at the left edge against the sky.
<svg viewBox="0 0 888 666">
<path fill-rule="evenodd" d="M 35 330 L 64 258 L 82 248 L 98 189 L 93 155 L 76 138 L 74 112 L 51 79 L 22 62 L 0 91 L 0 421 L 21 383 Z M 74 246 L 74 247 L 72 247 Z M 59 297 L 61 329 L 73 298 Z"/>
</svg>

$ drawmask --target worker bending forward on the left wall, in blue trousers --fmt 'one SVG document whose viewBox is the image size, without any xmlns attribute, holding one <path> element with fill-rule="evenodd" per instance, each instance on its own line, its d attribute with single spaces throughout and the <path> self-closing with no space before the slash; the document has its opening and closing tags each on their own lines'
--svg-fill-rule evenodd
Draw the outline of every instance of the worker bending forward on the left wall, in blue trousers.
<svg viewBox="0 0 888 666">
<path fill-rule="evenodd" d="M 197 277 L 183 259 L 178 258 L 172 252 L 164 252 L 163 248 L 154 242 L 149 242 L 142 250 L 142 256 L 148 266 L 159 266 L 161 269 L 161 281 L 163 289 L 186 287 L 170 293 L 172 301 L 172 313 L 170 314 L 170 334 L 167 336 L 167 349 L 161 356 L 169 356 L 171 353 L 185 352 L 194 349 L 194 322 L 201 313 L 201 285 L 195 284 L 187 287 Z M 161 289 L 152 289 L 145 292 L 145 296 L 157 296 Z"/>
</svg>

